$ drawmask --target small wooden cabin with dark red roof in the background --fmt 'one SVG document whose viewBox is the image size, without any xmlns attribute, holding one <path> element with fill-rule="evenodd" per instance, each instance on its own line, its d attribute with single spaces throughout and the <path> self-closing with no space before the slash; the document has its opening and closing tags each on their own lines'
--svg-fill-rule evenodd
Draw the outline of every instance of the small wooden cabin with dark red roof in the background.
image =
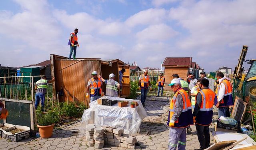
<svg viewBox="0 0 256 150">
<path fill-rule="evenodd" d="M 166 86 L 164 90 L 170 90 L 167 86 L 172 80 L 172 74 L 178 74 L 180 78 L 186 81 L 189 74 L 189 68 L 192 65 L 192 57 L 166 57 L 162 66 L 164 66 L 164 76 Z"/>
</svg>

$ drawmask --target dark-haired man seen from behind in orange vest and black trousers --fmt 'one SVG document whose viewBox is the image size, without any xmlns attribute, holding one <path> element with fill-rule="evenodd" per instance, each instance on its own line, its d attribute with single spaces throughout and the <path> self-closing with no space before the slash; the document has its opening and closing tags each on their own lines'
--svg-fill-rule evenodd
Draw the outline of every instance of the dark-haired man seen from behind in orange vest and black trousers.
<svg viewBox="0 0 256 150">
<path fill-rule="evenodd" d="M 209 80 L 202 79 L 199 83 L 200 91 L 196 94 L 196 105 L 193 112 L 194 123 L 196 124 L 196 133 L 200 143 L 200 150 L 210 146 L 209 126 L 212 123 L 212 107 L 215 93 L 210 90 Z"/>
</svg>

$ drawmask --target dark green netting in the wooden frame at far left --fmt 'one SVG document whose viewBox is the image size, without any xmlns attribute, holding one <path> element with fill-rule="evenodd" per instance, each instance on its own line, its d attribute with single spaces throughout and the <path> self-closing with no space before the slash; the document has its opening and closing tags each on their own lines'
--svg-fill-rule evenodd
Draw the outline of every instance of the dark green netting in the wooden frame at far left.
<svg viewBox="0 0 256 150">
<path fill-rule="evenodd" d="M 30 104 L 5 101 L 5 107 L 9 112 L 6 123 L 31 127 Z"/>
</svg>

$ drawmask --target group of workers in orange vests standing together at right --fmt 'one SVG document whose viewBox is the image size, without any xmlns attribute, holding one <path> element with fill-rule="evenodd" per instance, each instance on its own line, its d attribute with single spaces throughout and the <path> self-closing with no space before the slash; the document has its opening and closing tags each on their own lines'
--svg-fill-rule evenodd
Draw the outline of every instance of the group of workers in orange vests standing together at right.
<svg viewBox="0 0 256 150">
<path fill-rule="evenodd" d="M 190 126 L 195 124 L 200 149 L 210 146 L 209 126 L 212 122 L 213 105 L 218 108 L 218 117 L 230 117 L 229 107 L 234 105 L 232 98 L 232 85 L 230 78 L 218 72 L 216 78 L 218 85 L 216 91 L 209 89 L 209 80 L 205 72 L 200 72 L 200 80 L 191 74 L 187 77 L 188 82 L 179 78 L 178 74 L 172 75 L 171 83 L 168 85 L 174 92 L 170 101 L 167 126 L 170 127 L 168 149 L 185 150 L 186 128 L 191 132 Z M 164 78 L 158 76 L 158 85 Z M 163 84 L 164 85 L 164 84 Z M 159 88 L 158 88 L 159 89 Z M 158 90 L 159 93 L 159 90 Z M 159 96 L 159 95 L 158 95 Z M 192 112 L 192 108 L 194 111 Z"/>
</svg>

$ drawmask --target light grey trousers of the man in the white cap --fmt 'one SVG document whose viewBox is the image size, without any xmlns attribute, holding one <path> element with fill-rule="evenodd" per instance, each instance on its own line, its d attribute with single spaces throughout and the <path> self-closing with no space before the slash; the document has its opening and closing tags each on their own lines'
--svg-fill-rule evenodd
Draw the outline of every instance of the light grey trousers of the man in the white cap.
<svg viewBox="0 0 256 150">
<path fill-rule="evenodd" d="M 186 149 L 186 128 L 172 128 L 169 130 L 168 150 Z"/>
</svg>

